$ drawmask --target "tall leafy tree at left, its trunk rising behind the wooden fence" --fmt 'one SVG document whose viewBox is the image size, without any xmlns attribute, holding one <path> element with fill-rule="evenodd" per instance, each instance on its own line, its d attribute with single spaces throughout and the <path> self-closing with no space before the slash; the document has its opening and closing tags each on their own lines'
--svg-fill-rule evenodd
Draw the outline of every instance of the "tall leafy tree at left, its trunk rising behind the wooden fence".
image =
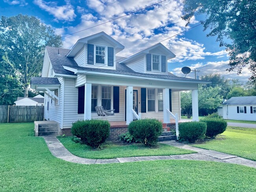
<svg viewBox="0 0 256 192">
<path fill-rule="evenodd" d="M 6 66 L 4 72 L 12 74 L 24 89 L 24 97 L 28 97 L 30 78 L 40 75 L 45 46 L 63 44 L 61 37 L 36 17 L 21 14 L 1 17 L 1 62 Z"/>
</svg>

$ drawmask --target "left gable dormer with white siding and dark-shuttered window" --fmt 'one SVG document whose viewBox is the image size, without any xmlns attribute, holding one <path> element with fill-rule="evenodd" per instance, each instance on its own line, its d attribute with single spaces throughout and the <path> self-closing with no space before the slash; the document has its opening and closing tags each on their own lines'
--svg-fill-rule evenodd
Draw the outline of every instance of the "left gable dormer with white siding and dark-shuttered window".
<svg viewBox="0 0 256 192">
<path fill-rule="evenodd" d="M 67 57 L 73 57 L 79 66 L 90 68 L 116 68 L 115 55 L 124 46 L 104 32 L 79 39 Z"/>
</svg>

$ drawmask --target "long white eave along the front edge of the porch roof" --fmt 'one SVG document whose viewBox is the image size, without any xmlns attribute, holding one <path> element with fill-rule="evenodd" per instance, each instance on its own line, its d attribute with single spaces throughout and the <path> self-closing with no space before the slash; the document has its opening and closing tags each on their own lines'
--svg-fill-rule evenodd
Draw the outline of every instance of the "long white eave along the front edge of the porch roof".
<svg viewBox="0 0 256 192">
<path fill-rule="evenodd" d="M 125 74 L 114 74 L 110 72 L 98 72 L 98 71 L 89 71 L 82 69 L 75 69 L 68 66 L 63 66 L 66 70 L 74 72 L 74 74 L 88 74 L 94 76 L 108 76 L 108 77 L 117 77 L 117 78 L 133 78 L 133 79 L 146 79 L 146 80 L 155 80 L 155 81 L 168 81 L 168 82 L 178 82 L 178 83 L 197 83 L 197 84 L 210 84 L 210 81 L 193 81 L 193 80 L 182 80 L 182 79 L 163 79 L 163 78 L 151 78 L 143 77 L 136 75 L 125 75 Z"/>
</svg>

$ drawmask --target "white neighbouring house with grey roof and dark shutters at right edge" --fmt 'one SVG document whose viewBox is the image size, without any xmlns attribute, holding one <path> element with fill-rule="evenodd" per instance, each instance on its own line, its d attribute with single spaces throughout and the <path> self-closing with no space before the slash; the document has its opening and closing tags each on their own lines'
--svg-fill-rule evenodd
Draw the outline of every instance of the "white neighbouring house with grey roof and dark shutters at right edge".
<svg viewBox="0 0 256 192">
<path fill-rule="evenodd" d="M 222 105 L 224 119 L 256 121 L 256 96 L 232 97 Z"/>
</svg>

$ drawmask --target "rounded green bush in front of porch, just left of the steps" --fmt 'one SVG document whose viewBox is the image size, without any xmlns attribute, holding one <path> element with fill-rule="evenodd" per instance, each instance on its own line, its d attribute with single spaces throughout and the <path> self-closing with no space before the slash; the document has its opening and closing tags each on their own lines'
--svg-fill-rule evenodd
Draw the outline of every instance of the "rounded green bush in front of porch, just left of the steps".
<svg viewBox="0 0 256 192">
<path fill-rule="evenodd" d="M 141 143 L 147 146 L 156 144 L 162 134 L 163 125 L 156 119 L 143 119 L 133 121 L 128 126 L 129 133 Z"/>
</svg>

